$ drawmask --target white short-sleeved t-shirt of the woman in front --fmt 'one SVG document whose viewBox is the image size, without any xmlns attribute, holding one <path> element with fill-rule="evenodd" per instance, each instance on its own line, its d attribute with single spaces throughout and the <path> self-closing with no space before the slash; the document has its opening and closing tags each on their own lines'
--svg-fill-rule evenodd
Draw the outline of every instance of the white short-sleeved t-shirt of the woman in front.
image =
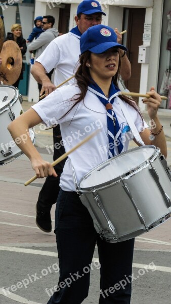
<svg viewBox="0 0 171 304">
<path fill-rule="evenodd" d="M 93 92 L 88 90 L 84 101 L 79 102 L 66 117 L 60 120 L 74 103 L 74 101 L 71 101 L 71 97 L 79 94 L 79 92 L 80 90 L 76 85 L 61 87 L 48 95 L 44 100 L 32 106 L 47 126 L 60 123 L 61 145 L 64 145 L 66 151 L 70 150 L 95 130 L 101 130 L 90 141 L 80 146 L 68 156 L 60 178 L 60 186 L 64 191 L 75 191 L 72 166 L 79 184 L 80 179 L 86 173 L 108 160 L 109 139 L 107 134 L 106 108 Z M 126 151 L 129 140 L 134 136 L 123 116 L 118 99 L 119 97 L 115 98 L 113 109 L 124 136 L 124 151 Z M 125 103 L 125 105 L 138 131 L 141 132 L 147 128 L 148 126 L 145 122 L 143 125 L 139 113 L 129 104 Z M 56 148 L 59 148 L 59 145 Z"/>
</svg>

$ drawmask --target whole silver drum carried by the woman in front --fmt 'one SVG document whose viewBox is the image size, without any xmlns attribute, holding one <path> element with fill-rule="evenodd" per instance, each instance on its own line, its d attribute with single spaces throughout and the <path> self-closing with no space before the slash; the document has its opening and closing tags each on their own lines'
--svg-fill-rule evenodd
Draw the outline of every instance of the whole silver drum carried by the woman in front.
<svg viewBox="0 0 171 304">
<path fill-rule="evenodd" d="M 152 145 L 137 147 L 98 165 L 80 180 L 80 200 L 102 239 L 129 240 L 170 218 L 171 176 L 159 154 Z"/>
</svg>

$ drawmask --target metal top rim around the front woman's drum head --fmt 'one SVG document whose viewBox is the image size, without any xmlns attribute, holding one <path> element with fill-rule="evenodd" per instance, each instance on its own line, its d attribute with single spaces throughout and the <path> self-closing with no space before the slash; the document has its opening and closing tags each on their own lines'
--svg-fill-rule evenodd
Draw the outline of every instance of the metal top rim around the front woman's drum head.
<svg viewBox="0 0 171 304">
<path fill-rule="evenodd" d="M 159 148 L 156 148 L 154 145 L 143 145 L 143 146 L 140 146 L 140 147 L 135 147 L 135 148 L 133 148 L 133 149 L 127 150 L 127 151 L 130 151 L 130 152 L 131 152 L 131 151 L 134 151 L 134 150 L 137 150 L 137 149 L 140 149 L 140 148 L 147 148 L 147 147 L 150 147 L 150 148 L 152 147 L 152 148 L 154 148 L 154 153 L 153 153 L 153 155 L 148 159 L 148 161 L 153 162 L 153 161 L 158 157 L 158 155 L 159 155 L 159 153 L 160 153 L 160 149 L 159 149 Z M 127 151 L 124 151 L 124 152 L 122 153 L 122 155 L 123 155 L 123 154 L 126 154 Z M 119 158 L 119 156 L 120 156 L 120 154 L 119 154 L 119 155 L 116 155 L 116 156 L 114 156 L 114 157 L 112 157 L 111 159 L 109 159 L 109 160 L 107 160 L 107 161 L 105 161 L 105 162 L 99 164 L 98 166 L 96 166 L 95 168 L 93 168 L 91 171 L 89 171 L 87 174 L 85 174 L 85 175 L 80 179 L 80 181 L 79 181 L 78 190 L 79 190 L 81 193 L 84 193 L 84 191 L 86 191 L 86 192 L 92 192 L 93 190 L 98 191 L 99 189 L 102 189 L 102 188 L 111 186 L 111 185 L 114 184 L 114 183 L 119 183 L 122 179 L 125 179 L 125 178 L 127 179 L 127 178 L 131 177 L 132 175 L 134 175 L 135 172 L 140 172 L 141 170 L 145 169 L 145 167 L 149 166 L 149 163 L 147 163 L 147 162 L 145 161 L 145 162 L 143 162 L 143 163 L 141 164 L 141 167 L 140 167 L 140 165 L 137 165 L 136 167 L 132 168 L 130 171 L 127 171 L 127 172 L 123 173 L 121 176 L 117 176 L 117 177 L 115 177 L 115 178 L 113 178 L 113 179 L 111 179 L 111 180 L 109 180 L 109 181 L 103 182 L 103 183 L 98 184 L 98 185 L 95 185 L 95 186 L 94 186 L 94 185 L 89 186 L 89 187 L 82 187 L 82 186 L 80 186 L 81 182 L 82 182 L 85 178 L 87 178 L 87 177 L 88 177 L 94 170 L 96 170 L 99 166 L 101 166 L 102 164 L 104 164 L 104 166 L 105 166 L 105 164 L 107 164 L 109 161 L 111 161 L 111 160 L 113 160 L 113 159 L 116 159 L 116 158 Z M 131 173 L 130 173 L 130 172 L 131 172 Z"/>
</svg>

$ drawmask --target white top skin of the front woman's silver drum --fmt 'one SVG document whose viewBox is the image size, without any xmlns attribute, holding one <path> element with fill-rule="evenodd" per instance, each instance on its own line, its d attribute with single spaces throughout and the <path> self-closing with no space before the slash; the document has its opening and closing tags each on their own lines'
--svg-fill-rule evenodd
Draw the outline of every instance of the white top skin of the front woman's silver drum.
<svg viewBox="0 0 171 304">
<path fill-rule="evenodd" d="M 153 145 L 146 145 L 128 150 L 98 165 L 87 173 L 79 183 L 81 189 L 98 188 L 109 182 L 118 181 L 145 166 L 157 156 L 158 150 Z"/>
</svg>

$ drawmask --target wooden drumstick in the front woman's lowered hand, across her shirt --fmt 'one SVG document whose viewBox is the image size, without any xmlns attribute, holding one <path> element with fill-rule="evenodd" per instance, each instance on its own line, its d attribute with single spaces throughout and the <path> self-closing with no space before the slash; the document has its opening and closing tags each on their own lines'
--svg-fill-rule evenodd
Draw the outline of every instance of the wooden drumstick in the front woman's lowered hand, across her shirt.
<svg viewBox="0 0 171 304">
<path fill-rule="evenodd" d="M 91 138 L 93 138 L 95 135 L 97 135 L 97 133 L 100 132 L 100 129 L 96 130 L 95 132 L 93 132 L 92 134 L 90 134 L 89 136 L 87 136 L 86 138 L 84 138 L 83 140 L 81 140 L 80 142 L 78 142 L 73 148 L 71 148 L 68 152 L 64 153 L 62 156 L 60 156 L 56 161 L 54 161 L 52 163 L 52 166 L 54 167 L 55 165 L 57 165 L 58 163 L 60 163 L 61 161 L 63 161 L 70 153 L 72 153 L 74 150 L 76 150 L 78 147 L 80 147 L 82 144 L 86 143 L 87 141 L 89 141 Z M 27 180 L 24 185 L 27 186 L 29 185 L 32 181 L 34 181 L 37 178 L 36 175 L 34 175 L 32 178 L 30 178 L 29 180 Z"/>
</svg>

